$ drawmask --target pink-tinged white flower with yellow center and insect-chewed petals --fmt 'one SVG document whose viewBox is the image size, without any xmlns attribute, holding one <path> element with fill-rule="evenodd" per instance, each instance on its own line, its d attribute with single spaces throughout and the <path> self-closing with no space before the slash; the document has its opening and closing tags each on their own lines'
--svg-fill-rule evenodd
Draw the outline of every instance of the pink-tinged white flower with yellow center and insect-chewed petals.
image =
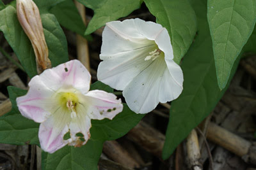
<svg viewBox="0 0 256 170">
<path fill-rule="evenodd" d="M 122 111 L 115 95 L 88 92 L 90 79 L 83 64 L 71 60 L 33 77 L 28 94 L 17 98 L 20 113 L 41 123 L 38 137 L 45 152 L 53 153 L 67 144 L 84 145 L 90 138 L 91 119 L 112 119 Z"/>
</svg>

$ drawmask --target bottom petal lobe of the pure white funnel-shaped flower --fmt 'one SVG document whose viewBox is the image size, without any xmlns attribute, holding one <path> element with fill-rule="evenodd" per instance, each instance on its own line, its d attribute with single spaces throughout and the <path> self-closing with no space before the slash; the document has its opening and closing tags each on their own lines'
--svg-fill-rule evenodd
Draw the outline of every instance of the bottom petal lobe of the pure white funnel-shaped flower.
<svg viewBox="0 0 256 170">
<path fill-rule="evenodd" d="M 125 87 L 123 95 L 129 108 L 136 113 L 148 113 L 159 103 L 159 88 L 164 70 L 163 56 L 154 60 Z"/>
</svg>

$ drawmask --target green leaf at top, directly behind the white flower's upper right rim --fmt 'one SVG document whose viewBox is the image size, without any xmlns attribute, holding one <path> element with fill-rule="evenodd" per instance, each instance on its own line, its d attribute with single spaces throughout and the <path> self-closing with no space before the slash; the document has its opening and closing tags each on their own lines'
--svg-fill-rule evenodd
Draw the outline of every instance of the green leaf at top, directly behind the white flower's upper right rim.
<svg viewBox="0 0 256 170">
<path fill-rule="evenodd" d="M 173 60 L 180 64 L 196 34 L 196 15 L 191 4 L 188 0 L 145 0 L 145 3 L 156 22 L 168 30 Z"/>
</svg>

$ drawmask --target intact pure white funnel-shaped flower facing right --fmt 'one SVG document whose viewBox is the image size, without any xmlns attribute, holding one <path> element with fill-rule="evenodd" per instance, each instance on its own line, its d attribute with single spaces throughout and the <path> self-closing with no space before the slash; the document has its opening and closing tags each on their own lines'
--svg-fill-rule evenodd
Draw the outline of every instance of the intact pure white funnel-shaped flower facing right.
<svg viewBox="0 0 256 170">
<path fill-rule="evenodd" d="M 138 18 L 108 22 L 97 77 L 123 95 L 129 108 L 148 113 L 182 92 L 183 73 L 173 61 L 168 31 Z"/>
</svg>

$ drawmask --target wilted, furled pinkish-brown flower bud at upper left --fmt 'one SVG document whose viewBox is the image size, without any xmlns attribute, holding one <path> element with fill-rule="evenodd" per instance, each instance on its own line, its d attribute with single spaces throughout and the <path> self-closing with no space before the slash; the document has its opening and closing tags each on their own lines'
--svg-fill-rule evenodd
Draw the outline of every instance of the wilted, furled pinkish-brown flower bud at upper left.
<svg viewBox="0 0 256 170">
<path fill-rule="evenodd" d="M 49 52 L 45 43 L 44 30 L 39 10 L 32 0 L 17 0 L 17 17 L 30 39 L 35 55 L 38 73 L 51 67 Z"/>
</svg>

